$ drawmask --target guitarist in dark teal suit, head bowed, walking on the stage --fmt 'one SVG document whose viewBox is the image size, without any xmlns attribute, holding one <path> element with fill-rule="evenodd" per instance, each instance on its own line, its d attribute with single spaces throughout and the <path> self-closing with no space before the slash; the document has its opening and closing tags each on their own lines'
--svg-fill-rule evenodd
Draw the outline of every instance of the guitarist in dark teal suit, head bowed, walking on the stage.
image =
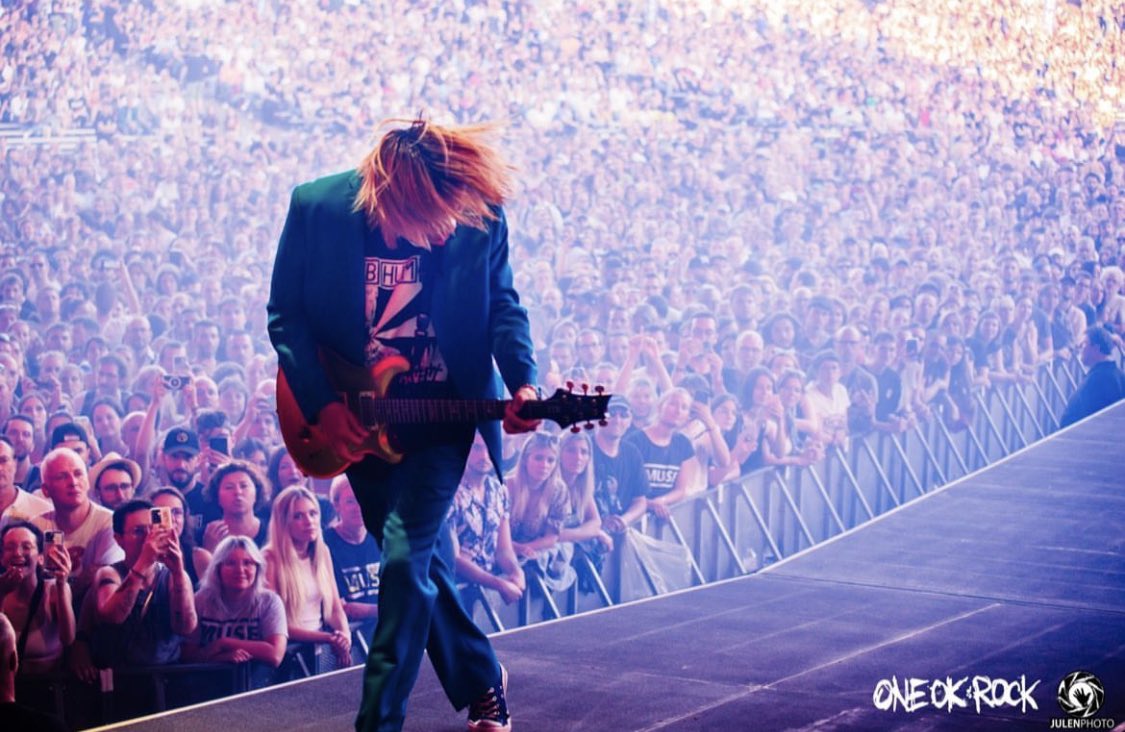
<svg viewBox="0 0 1125 732">
<path fill-rule="evenodd" d="M 318 359 L 322 349 L 364 365 L 403 356 L 410 369 L 396 396 L 496 399 L 506 385 L 504 428 L 538 426 L 518 414 L 537 398 L 537 373 L 507 261 L 510 168 L 485 142 L 492 128 L 394 121 L 405 126 L 358 170 L 294 190 L 270 287 L 270 340 L 305 421 L 351 463 L 363 521 L 382 548 L 356 729 L 402 728 L 429 650 L 450 702 L 469 707 L 469 730 L 508 730 L 507 674 L 461 607 L 444 524 L 474 431 L 500 464 L 500 425 L 428 425 L 397 464 L 364 455 L 367 430 Z"/>
</svg>

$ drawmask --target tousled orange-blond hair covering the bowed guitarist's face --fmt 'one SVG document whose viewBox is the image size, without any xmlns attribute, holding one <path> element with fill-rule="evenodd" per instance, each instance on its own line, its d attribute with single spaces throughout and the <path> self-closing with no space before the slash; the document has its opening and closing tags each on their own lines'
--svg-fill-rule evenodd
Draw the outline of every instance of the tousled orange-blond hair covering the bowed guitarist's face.
<svg viewBox="0 0 1125 732">
<path fill-rule="evenodd" d="M 511 192 L 511 171 L 486 143 L 495 125 L 443 127 L 428 119 L 388 119 L 388 130 L 359 165 L 354 211 L 384 232 L 387 246 L 402 236 L 429 248 L 450 222 L 487 229 L 492 210 Z M 448 234 L 449 232 L 444 232 Z"/>
</svg>

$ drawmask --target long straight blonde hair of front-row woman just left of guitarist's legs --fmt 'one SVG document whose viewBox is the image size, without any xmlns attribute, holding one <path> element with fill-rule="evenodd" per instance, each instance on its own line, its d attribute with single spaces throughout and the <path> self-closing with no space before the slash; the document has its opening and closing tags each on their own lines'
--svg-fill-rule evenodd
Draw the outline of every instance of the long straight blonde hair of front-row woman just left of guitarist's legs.
<svg viewBox="0 0 1125 732">
<path fill-rule="evenodd" d="M 286 615 L 290 621 L 299 615 L 300 607 L 306 600 L 305 585 L 300 575 L 300 563 L 304 560 L 297 555 L 297 550 L 292 545 L 292 536 L 289 535 L 289 516 L 292 514 L 292 505 L 300 498 L 312 501 L 313 506 L 320 510 L 316 496 L 307 488 L 289 486 L 282 490 L 273 501 L 273 512 L 270 515 L 270 540 L 264 549 L 267 561 L 273 564 L 272 575 L 277 582 L 277 586 L 270 589 L 281 596 Z M 316 586 L 321 589 L 321 616 L 326 620 L 332 616 L 332 608 L 339 597 L 339 591 L 332 571 L 332 557 L 328 554 L 323 535 L 309 543 L 308 561 L 312 562 Z"/>
</svg>

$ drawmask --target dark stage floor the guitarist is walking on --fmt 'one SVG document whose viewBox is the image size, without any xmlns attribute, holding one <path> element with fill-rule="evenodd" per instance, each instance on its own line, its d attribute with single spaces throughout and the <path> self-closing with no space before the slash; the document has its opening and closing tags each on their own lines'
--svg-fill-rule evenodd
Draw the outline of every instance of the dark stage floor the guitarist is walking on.
<svg viewBox="0 0 1125 732">
<path fill-rule="evenodd" d="M 1077 720 L 1056 698 L 1074 671 L 1105 701 L 1059 729 L 1122 725 L 1123 435 L 1125 404 L 754 576 L 496 635 L 513 726 L 1046 730 Z M 349 730 L 359 684 L 117 729 Z M 428 665 L 406 729 L 465 729 Z"/>
</svg>

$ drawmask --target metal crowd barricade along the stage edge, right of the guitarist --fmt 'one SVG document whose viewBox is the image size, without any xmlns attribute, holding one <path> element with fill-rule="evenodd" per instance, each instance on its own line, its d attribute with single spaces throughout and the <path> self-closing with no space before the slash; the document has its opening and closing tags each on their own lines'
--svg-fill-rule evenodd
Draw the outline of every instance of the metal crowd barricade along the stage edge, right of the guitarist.
<svg viewBox="0 0 1125 732">
<path fill-rule="evenodd" d="M 1051 434 L 1082 377 L 1076 358 L 1054 360 L 1030 378 L 974 389 L 961 405 L 966 418 L 935 408 L 903 432 L 854 435 L 809 467 L 757 470 L 672 506 L 666 519 L 647 515 L 630 531 L 666 546 L 665 561 L 682 557 L 677 578 L 664 576 L 667 566 L 654 559 L 662 554 L 629 551 L 627 541 L 601 569 L 578 552 L 576 567 L 596 582 L 577 582 L 561 602 L 529 581 L 516 624 L 572 614 L 584 596 L 604 607 L 739 577 L 814 546 Z M 486 606 L 487 630 L 511 626 L 487 594 L 474 602 Z"/>
</svg>

